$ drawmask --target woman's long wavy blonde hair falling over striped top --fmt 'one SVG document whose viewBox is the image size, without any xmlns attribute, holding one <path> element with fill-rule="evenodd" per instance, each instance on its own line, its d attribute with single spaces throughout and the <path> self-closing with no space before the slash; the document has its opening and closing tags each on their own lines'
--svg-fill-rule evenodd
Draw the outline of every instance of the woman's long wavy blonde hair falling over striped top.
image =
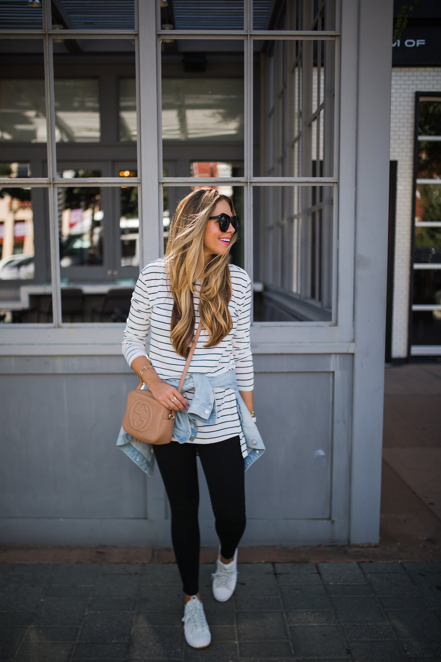
<svg viewBox="0 0 441 662">
<path fill-rule="evenodd" d="M 213 255 L 204 268 L 204 234 L 208 218 L 220 200 L 225 200 L 235 214 L 232 201 L 215 189 L 192 191 L 184 197 L 170 224 L 169 240 L 165 251 L 165 267 L 175 301 L 171 314 L 170 340 L 175 352 L 187 357 L 194 336 L 195 284 L 200 285 L 199 314 L 208 332 L 206 348 L 218 345 L 233 328 L 228 310 L 231 299 L 231 278 L 228 255 L 237 239 L 231 237 L 229 248 L 221 255 Z"/>
</svg>

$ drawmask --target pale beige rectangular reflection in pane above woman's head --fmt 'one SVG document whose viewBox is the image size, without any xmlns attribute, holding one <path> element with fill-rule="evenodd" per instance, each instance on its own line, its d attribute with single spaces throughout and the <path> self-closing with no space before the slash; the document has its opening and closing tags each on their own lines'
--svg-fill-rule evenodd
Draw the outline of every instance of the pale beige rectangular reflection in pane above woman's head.
<svg viewBox="0 0 441 662">
<path fill-rule="evenodd" d="M 163 78 L 163 140 L 243 141 L 243 80 Z"/>
</svg>

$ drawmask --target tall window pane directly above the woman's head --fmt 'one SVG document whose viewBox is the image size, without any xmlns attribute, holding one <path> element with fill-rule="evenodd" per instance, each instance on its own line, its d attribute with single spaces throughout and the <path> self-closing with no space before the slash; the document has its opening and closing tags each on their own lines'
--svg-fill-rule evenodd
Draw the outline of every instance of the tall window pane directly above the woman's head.
<svg viewBox="0 0 441 662">
<path fill-rule="evenodd" d="M 193 161 L 243 162 L 243 41 L 178 40 L 162 46 L 163 158 L 190 176 Z M 197 145 L 197 146 L 196 146 Z"/>
</svg>

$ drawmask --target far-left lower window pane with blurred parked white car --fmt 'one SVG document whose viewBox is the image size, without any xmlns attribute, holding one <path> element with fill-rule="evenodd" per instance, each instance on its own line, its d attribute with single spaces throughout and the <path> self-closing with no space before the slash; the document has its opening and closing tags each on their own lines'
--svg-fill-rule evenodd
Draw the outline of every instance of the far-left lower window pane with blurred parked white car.
<svg viewBox="0 0 441 662">
<path fill-rule="evenodd" d="M 0 322 L 52 322 L 47 189 L 0 189 L 0 251 Z"/>
</svg>

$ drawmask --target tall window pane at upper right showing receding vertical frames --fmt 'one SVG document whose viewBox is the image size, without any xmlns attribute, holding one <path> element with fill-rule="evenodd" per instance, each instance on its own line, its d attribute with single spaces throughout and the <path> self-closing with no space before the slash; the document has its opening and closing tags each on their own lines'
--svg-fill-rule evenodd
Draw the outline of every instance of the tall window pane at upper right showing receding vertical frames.
<svg viewBox="0 0 441 662">
<path fill-rule="evenodd" d="M 332 41 L 260 41 L 254 60 L 254 173 L 332 177 L 335 45 Z M 262 123 L 262 126 L 261 126 Z M 259 141 L 258 144 L 256 144 Z"/>
</svg>

